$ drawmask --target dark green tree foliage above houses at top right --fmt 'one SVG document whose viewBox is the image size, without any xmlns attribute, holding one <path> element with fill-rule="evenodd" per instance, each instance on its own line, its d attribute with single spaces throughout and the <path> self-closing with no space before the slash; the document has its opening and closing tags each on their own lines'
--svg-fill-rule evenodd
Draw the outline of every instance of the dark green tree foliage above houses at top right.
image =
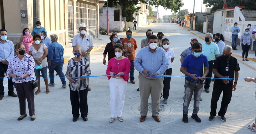
<svg viewBox="0 0 256 134">
<path fill-rule="evenodd" d="M 211 7 L 211 11 L 217 11 L 218 9 L 222 9 L 224 5 L 223 0 L 204 0 L 203 4 L 206 4 L 205 7 Z M 256 10 L 256 2 L 255 0 L 228 0 L 227 1 L 228 7 L 235 7 L 235 6 L 244 6 L 246 10 Z"/>
</svg>

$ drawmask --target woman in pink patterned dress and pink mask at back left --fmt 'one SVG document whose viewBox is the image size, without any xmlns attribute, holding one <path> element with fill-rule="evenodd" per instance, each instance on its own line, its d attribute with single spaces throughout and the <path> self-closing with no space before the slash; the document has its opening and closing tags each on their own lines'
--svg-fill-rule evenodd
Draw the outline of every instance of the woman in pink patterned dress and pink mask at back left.
<svg viewBox="0 0 256 134">
<path fill-rule="evenodd" d="M 26 53 L 28 54 L 29 47 L 34 44 L 33 36 L 29 34 L 28 27 L 24 28 L 22 31 L 22 35 L 20 36 L 20 42 L 23 43 L 23 45 L 26 48 Z"/>
</svg>

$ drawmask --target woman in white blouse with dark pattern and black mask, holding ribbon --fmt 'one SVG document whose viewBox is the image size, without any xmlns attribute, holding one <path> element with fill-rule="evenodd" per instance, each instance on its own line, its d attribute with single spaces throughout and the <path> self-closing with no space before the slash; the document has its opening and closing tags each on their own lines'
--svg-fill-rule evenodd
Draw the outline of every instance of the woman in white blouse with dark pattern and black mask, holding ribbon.
<svg viewBox="0 0 256 134">
<path fill-rule="evenodd" d="M 10 61 L 7 69 L 7 76 L 12 77 L 13 85 L 16 88 L 19 102 L 20 102 L 20 117 L 18 120 L 22 120 L 27 117 L 26 113 L 26 98 L 28 101 L 28 111 L 30 120 L 34 121 L 35 116 L 35 102 L 34 102 L 34 91 L 32 82 L 34 81 L 33 71 L 35 68 L 34 58 L 25 53 L 26 48 L 22 42 L 15 45 L 15 52 L 17 55 L 14 56 Z"/>
</svg>

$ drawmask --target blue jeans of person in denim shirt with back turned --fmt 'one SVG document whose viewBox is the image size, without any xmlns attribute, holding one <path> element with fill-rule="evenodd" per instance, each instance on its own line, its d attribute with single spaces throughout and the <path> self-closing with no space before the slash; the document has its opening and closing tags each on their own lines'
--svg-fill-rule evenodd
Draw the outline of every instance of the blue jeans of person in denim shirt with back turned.
<svg viewBox="0 0 256 134">
<path fill-rule="evenodd" d="M 49 77 L 50 77 L 50 83 L 53 84 L 54 83 L 54 70 L 57 71 L 58 75 L 60 76 L 60 80 L 61 80 L 61 84 L 66 84 L 66 80 L 65 80 L 65 75 L 62 72 L 62 67 L 63 67 L 64 62 L 62 63 L 57 63 L 54 64 L 52 63 L 52 65 L 48 65 L 49 68 Z"/>
</svg>

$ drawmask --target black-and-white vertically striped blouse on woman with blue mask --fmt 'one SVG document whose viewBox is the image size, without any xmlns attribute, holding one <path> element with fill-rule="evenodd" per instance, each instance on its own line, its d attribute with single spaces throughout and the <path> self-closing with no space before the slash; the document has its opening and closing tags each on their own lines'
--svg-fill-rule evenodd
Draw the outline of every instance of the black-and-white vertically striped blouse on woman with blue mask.
<svg viewBox="0 0 256 134">
<path fill-rule="evenodd" d="M 70 77 L 81 77 L 84 74 L 91 75 L 91 69 L 89 61 L 86 57 L 82 57 L 79 61 L 74 58 L 68 61 L 68 68 L 66 76 Z M 89 78 L 80 80 L 79 78 L 73 78 L 75 82 L 69 82 L 69 87 L 72 91 L 80 91 L 86 89 L 89 83 Z"/>
</svg>

